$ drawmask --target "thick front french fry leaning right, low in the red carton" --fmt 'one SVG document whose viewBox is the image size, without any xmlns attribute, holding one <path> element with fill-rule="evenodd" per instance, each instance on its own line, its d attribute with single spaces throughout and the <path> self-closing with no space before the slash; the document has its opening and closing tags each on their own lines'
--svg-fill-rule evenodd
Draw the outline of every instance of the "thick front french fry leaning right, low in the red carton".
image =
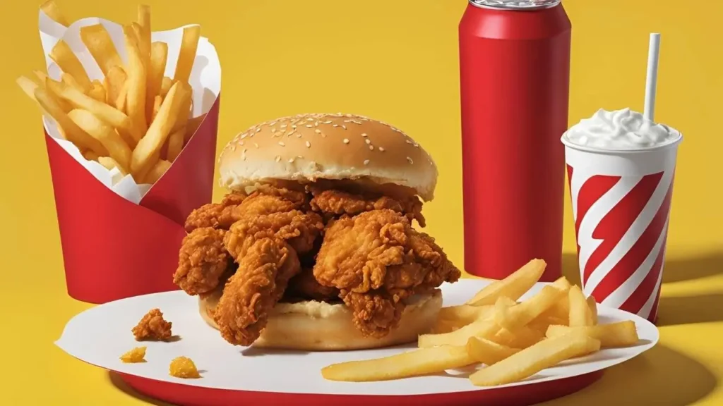
<svg viewBox="0 0 723 406">
<path fill-rule="evenodd" d="M 184 88 L 176 82 L 168 91 L 168 95 L 163 100 L 158 115 L 155 116 L 153 123 L 150 124 L 145 137 L 136 145 L 133 150 L 131 160 L 131 173 L 137 174 L 145 167 L 147 161 L 155 152 L 161 149 L 161 145 L 166 142 L 166 137 L 171 133 L 171 129 L 179 115 L 179 108 L 183 101 Z"/>
</svg>

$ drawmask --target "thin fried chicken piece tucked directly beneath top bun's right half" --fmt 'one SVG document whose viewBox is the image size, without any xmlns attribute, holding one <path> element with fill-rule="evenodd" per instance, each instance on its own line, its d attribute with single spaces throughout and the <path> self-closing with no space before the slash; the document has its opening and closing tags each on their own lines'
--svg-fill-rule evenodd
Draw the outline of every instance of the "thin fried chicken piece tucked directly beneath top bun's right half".
<svg viewBox="0 0 723 406">
<path fill-rule="evenodd" d="M 379 194 L 351 194 L 336 189 L 319 190 L 310 188 L 310 190 L 314 195 L 311 200 L 311 207 L 316 212 L 353 217 L 361 212 L 389 209 L 406 215 L 410 222 L 416 219 L 420 226 L 424 227 L 426 225 L 422 215 L 422 202 L 417 196 L 406 199 L 393 199 Z"/>
</svg>

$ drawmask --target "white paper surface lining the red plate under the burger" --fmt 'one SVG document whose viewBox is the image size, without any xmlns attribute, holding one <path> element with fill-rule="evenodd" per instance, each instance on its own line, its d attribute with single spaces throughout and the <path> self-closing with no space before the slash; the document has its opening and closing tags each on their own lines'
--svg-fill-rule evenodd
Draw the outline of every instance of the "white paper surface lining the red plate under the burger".
<svg viewBox="0 0 723 406">
<path fill-rule="evenodd" d="M 489 282 L 465 279 L 453 285 L 443 285 L 445 306 L 463 304 L 487 283 Z M 536 293 L 543 285 L 538 283 L 523 298 Z M 181 337 L 180 340 L 134 340 L 130 329 L 151 308 L 161 309 L 164 318 L 173 323 L 172 331 Z M 593 355 L 568 360 L 536 373 L 529 379 L 504 386 L 554 381 L 599 371 L 640 355 L 659 340 L 656 327 L 641 317 L 602 306 L 598 311 L 601 324 L 635 321 L 641 341 L 633 347 L 604 349 Z M 111 371 L 216 389 L 369 395 L 435 394 L 485 389 L 473 386 L 465 376 L 459 376 L 462 371 L 448 371 L 449 375 L 439 373 L 381 382 L 327 381 L 322 378 L 320 370 L 331 363 L 393 355 L 416 345 L 378 350 L 309 353 L 236 347 L 224 341 L 218 331 L 202 321 L 197 298 L 182 291 L 137 296 L 91 308 L 66 324 L 56 345 L 75 358 Z M 146 363 L 121 363 L 121 354 L 141 345 L 147 346 Z M 169 363 L 180 355 L 194 361 L 201 371 L 202 379 L 177 379 L 168 375 Z"/>
</svg>

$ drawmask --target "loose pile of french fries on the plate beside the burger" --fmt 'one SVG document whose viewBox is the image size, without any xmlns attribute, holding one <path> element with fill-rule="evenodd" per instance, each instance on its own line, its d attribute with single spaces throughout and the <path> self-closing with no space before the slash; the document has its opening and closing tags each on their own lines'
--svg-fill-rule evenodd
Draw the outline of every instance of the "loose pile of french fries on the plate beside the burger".
<svg viewBox="0 0 723 406">
<path fill-rule="evenodd" d="M 518 301 L 542 277 L 533 259 L 504 280 L 480 290 L 461 306 L 442 308 L 435 334 L 419 336 L 419 349 L 386 358 L 327 366 L 333 381 L 382 381 L 479 366 L 476 386 L 521 381 L 564 360 L 606 347 L 638 342 L 633 321 L 598 324 L 595 299 L 565 277 Z"/>
</svg>

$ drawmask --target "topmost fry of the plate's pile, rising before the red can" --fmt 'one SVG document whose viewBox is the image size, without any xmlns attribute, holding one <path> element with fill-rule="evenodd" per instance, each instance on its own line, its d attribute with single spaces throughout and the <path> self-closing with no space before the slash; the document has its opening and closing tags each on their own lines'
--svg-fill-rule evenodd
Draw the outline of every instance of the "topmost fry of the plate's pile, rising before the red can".
<svg viewBox="0 0 723 406">
<path fill-rule="evenodd" d="M 533 259 L 512 275 L 484 287 L 474 295 L 474 298 L 467 301 L 467 304 L 474 306 L 492 305 L 500 296 L 507 296 L 516 301 L 542 277 L 546 265 L 542 259 Z"/>
</svg>

